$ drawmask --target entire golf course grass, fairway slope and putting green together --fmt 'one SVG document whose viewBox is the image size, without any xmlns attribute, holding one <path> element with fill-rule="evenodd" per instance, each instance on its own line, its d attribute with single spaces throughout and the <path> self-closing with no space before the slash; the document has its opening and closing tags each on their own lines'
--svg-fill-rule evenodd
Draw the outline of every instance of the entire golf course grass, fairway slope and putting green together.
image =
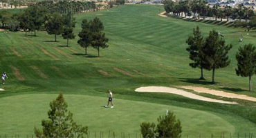
<svg viewBox="0 0 256 138">
<path fill-rule="evenodd" d="M 237 48 L 246 43 L 255 44 L 255 32 L 249 32 L 250 34 L 246 35 L 247 32 L 242 29 L 159 17 L 157 15 L 159 9 L 163 8 L 143 5 L 118 6 L 100 12 L 75 15 L 77 19 L 75 34 L 81 30 L 82 19 L 99 17 L 104 23 L 104 32 L 109 38 L 109 48 L 100 50 L 101 57 L 99 58 L 95 57 L 97 50 L 93 48 L 89 48 L 89 55 L 84 56 L 84 50 L 77 45 L 78 37 L 71 40 L 70 47 L 66 48 L 64 47 L 66 40 L 59 36 L 57 43 L 52 42 L 54 36 L 48 35 L 46 32 L 37 32 L 38 37 L 25 36 L 24 32 L 0 32 L 0 70 L 8 72 L 9 77 L 6 85 L 0 86 L 6 90 L 0 92 L 2 98 L 0 102 L 2 103 L 1 108 L 6 112 L 10 110 L 9 115 L 12 115 L 13 118 L 8 120 L 5 117 L 9 117 L 9 115 L 3 115 L 0 122 L 4 124 L 4 128 L 9 130 L 2 131 L 1 126 L 0 131 L 3 134 L 9 132 L 17 134 L 19 129 L 23 129 L 19 130 L 19 133 L 31 134 L 33 127 L 39 126 L 41 120 L 46 118 L 48 102 L 53 99 L 53 96 L 31 96 L 28 94 L 64 92 L 64 97 L 67 97 L 68 105 L 70 105 L 75 119 L 83 124 L 91 125 L 89 130 L 92 131 L 139 132 L 138 121 L 156 121 L 158 115 L 162 115 L 167 108 L 170 108 L 184 124 L 183 137 L 187 134 L 194 136 L 208 134 L 210 136 L 211 133 L 219 133 L 220 135 L 223 126 L 226 128 L 222 129 L 222 132 L 231 132 L 235 135 L 237 132 L 240 134 L 256 132 L 256 110 L 253 102 L 242 102 L 243 105 L 226 105 L 197 101 L 178 95 L 134 92 L 134 89 L 140 86 L 196 85 L 256 97 L 256 91 L 246 91 L 248 90 L 248 79 L 235 75 Z M 220 31 L 226 39 L 226 43 L 232 43 L 234 46 L 229 54 L 230 66 L 216 72 L 216 81 L 219 82 L 216 85 L 208 83 L 211 72 L 205 71 L 207 80 L 199 81 L 197 78 L 200 76 L 200 70 L 188 66 L 190 60 L 188 52 L 185 51 L 185 48 L 188 47 L 185 40 L 192 34 L 192 29 L 196 26 L 201 28 L 204 36 L 212 28 Z M 244 35 L 244 41 L 241 43 L 238 42 L 240 34 Z M 107 75 L 102 75 L 100 73 L 102 70 L 107 72 Z M 122 73 L 120 70 L 126 73 Z M 127 75 L 127 73 L 131 75 Z M 25 80 L 20 81 L 21 79 Z M 255 82 L 253 80 L 253 85 Z M 123 119 L 126 125 L 118 122 L 118 124 L 113 124 L 114 126 L 105 128 L 106 121 L 111 118 L 109 117 L 111 111 L 105 110 L 105 108 L 100 108 L 100 110 L 88 108 L 103 106 L 106 99 L 101 97 L 106 97 L 109 89 L 113 90 L 117 107 L 113 110 L 116 112 L 113 114 L 116 115 L 113 118 L 124 115 Z M 68 96 L 68 94 L 71 95 Z M 13 97 L 10 97 L 12 95 Z M 99 101 L 87 102 L 83 97 L 88 96 L 80 95 L 91 95 L 93 96 L 91 99 Z M 13 101 L 12 98 L 16 99 Z M 24 99 L 29 102 L 26 103 Z M 80 107 L 87 103 L 89 106 L 84 106 L 80 110 Z M 22 108 L 22 105 L 27 106 Z M 150 105 L 155 108 L 150 108 Z M 141 116 L 135 117 L 134 112 L 127 113 L 133 107 L 136 112 L 141 111 L 139 112 Z M 19 111 L 15 112 L 15 110 L 21 110 L 21 108 L 27 113 L 17 115 Z M 188 111 L 189 108 L 193 109 L 193 117 L 189 116 L 193 115 L 192 111 Z M 40 110 L 42 113 L 33 113 L 34 109 Z M 86 112 L 86 110 L 90 110 L 90 112 Z M 93 112 L 100 112 L 100 114 L 94 115 Z M 27 124 L 26 121 L 20 119 L 21 117 L 30 117 L 34 121 Z M 219 120 L 216 121 L 219 122 L 219 126 L 213 124 L 215 118 Z M 20 120 L 21 124 L 27 126 L 21 127 L 18 124 L 11 125 L 9 123 L 15 120 Z M 104 123 L 100 124 L 99 122 Z M 199 128 L 193 126 L 194 122 L 199 123 Z M 206 126 L 214 127 L 207 128 Z M 124 130 L 123 127 L 127 128 Z"/>
</svg>

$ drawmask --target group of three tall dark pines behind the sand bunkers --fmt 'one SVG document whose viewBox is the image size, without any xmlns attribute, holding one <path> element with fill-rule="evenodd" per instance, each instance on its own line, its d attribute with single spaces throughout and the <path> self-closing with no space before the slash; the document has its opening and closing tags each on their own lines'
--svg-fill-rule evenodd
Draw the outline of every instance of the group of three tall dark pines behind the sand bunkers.
<svg viewBox="0 0 256 138">
<path fill-rule="evenodd" d="M 212 70 L 212 83 L 214 83 L 215 70 L 225 68 L 230 64 L 228 51 L 232 45 L 225 45 L 222 37 L 219 32 L 212 30 L 204 39 L 198 26 L 194 28 L 193 35 L 188 37 L 186 43 L 189 47 L 186 50 L 190 52 L 190 59 L 193 61 L 190 66 L 201 69 L 200 79 L 203 79 L 203 69 Z M 241 77 L 249 77 L 249 90 L 251 91 L 251 78 L 256 74 L 256 47 L 251 44 L 240 47 L 236 58 L 235 71 Z"/>
</svg>

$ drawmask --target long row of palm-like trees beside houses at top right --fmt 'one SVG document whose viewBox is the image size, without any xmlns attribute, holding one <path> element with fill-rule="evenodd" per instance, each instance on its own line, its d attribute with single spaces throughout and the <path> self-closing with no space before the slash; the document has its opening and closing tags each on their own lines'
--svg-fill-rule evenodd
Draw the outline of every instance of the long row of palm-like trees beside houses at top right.
<svg viewBox="0 0 256 138">
<path fill-rule="evenodd" d="M 215 17 L 215 20 L 217 20 L 217 18 L 221 18 L 221 21 L 223 18 L 226 18 L 227 21 L 229 18 L 231 18 L 239 19 L 239 21 L 241 21 L 241 19 L 245 19 L 247 22 L 248 19 L 255 16 L 253 10 L 246 8 L 243 5 L 239 5 L 238 8 L 232 8 L 230 6 L 221 7 L 216 4 L 210 8 L 205 0 L 185 0 L 176 2 L 166 0 L 164 2 L 164 8 L 167 13 L 172 12 L 174 15 L 178 16 L 183 16 L 183 13 L 185 16 L 190 16 L 193 13 L 193 17 L 196 18 L 197 13 L 199 19 L 200 16 L 203 16 L 203 19 L 205 19 L 205 16 L 207 16 Z"/>
</svg>

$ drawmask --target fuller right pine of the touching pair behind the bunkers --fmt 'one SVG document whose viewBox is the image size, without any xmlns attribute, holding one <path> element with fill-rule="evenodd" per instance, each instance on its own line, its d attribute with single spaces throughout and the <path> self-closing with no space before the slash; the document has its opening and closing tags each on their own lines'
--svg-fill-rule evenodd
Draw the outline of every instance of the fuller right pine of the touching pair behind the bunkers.
<svg viewBox="0 0 256 138">
<path fill-rule="evenodd" d="M 201 48 L 203 55 L 205 55 L 205 66 L 207 70 L 212 70 L 212 83 L 214 81 L 215 70 L 225 68 L 230 64 L 228 59 L 228 51 L 232 45 L 225 46 L 225 40 L 220 37 L 219 32 L 212 30 L 209 36 L 205 39 L 205 45 Z"/>
</svg>

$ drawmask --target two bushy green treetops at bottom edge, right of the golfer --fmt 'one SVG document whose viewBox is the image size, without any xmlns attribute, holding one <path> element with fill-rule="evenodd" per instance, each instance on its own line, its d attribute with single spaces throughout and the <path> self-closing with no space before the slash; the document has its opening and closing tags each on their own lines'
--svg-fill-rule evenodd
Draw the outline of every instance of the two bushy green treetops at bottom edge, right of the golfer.
<svg viewBox="0 0 256 138">
<path fill-rule="evenodd" d="M 157 121 L 157 126 L 149 122 L 140 124 L 140 132 L 143 137 L 181 137 L 181 121 L 176 119 L 173 112 L 167 112 L 166 115 L 158 117 Z"/>
</svg>

